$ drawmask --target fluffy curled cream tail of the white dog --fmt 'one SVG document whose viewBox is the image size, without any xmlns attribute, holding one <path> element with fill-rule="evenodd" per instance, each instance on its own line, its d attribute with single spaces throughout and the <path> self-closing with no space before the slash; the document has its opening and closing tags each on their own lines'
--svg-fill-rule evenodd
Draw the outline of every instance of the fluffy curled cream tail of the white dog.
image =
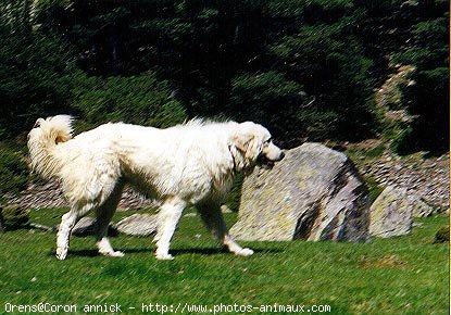
<svg viewBox="0 0 451 315">
<path fill-rule="evenodd" d="M 55 176 L 63 161 L 58 159 L 57 146 L 72 139 L 72 116 L 58 115 L 39 118 L 28 134 L 28 150 L 32 159 L 32 169 L 43 177 Z"/>
</svg>

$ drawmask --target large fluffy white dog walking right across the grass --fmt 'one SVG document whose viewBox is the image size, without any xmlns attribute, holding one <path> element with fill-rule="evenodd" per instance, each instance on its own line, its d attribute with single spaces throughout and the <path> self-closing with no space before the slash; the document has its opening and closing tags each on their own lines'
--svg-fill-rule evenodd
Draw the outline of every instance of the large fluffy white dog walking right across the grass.
<svg viewBox="0 0 451 315">
<path fill-rule="evenodd" d="M 238 255 L 251 255 L 228 235 L 220 205 L 235 174 L 284 158 L 270 133 L 254 123 L 187 124 L 156 129 L 105 124 L 72 137 L 72 117 L 39 118 L 28 135 L 32 167 L 62 179 L 71 210 L 63 215 L 57 257 L 67 255 L 71 230 L 96 211 L 99 252 L 123 256 L 107 238 L 125 184 L 163 202 L 156 228 L 156 257 L 171 260 L 170 242 L 185 207 L 196 205 L 212 234 Z"/>
</svg>

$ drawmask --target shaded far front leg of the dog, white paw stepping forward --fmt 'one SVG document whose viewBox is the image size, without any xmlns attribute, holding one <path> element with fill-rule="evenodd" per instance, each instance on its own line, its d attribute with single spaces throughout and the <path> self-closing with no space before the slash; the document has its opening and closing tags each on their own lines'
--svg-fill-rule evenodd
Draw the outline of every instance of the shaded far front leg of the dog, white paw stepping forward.
<svg viewBox="0 0 451 315">
<path fill-rule="evenodd" d="M 249 256 L 253 254 L 251 249 L 241 248 L 228 234 L 226 223 L 224 222 L 221 206 L 217 204 L 200 204 L 197 206 L 206 228 L 212 235 L 236 255 Z"/>
</svg>

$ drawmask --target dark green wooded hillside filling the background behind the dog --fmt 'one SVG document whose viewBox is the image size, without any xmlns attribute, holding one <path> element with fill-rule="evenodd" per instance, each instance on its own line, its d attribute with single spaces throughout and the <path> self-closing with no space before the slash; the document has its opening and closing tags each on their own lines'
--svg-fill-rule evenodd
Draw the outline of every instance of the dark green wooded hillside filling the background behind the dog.
<svg viewBox="0 0 451 315">
<path fill-rule="evenodd" d="M 57 113 L 78 131 L 201 116 L 261 123 L 285 148 L 387 137 L 402 154 L 440 153 L 448 39 L 444 0 L 3 0 L 1 160 Z M 400 66 L 409 84 L 389 110 L 411 118 L 393 126 L 375 90 Z"/>
</svg>

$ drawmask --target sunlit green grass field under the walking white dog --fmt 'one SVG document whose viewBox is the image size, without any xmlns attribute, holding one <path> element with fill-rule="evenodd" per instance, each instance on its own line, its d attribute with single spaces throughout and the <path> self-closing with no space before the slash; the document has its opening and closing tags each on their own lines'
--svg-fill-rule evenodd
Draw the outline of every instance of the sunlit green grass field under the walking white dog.
<svg viewBox="0 0 451 315">
<path fill-rule="evenodd" d="M 48 225 L 61 214 L 32 213 L 33 222 Z M 235 215 L 226 218 L 230 225 Z M 448 224 L 449 217 L 417 219 L 412 235 L 371 243 L 252 242 L 246 244 L 255 254 L 239 257 L 217 250 L 199 217 L 184 217 L 173 242 L 176 259 L 170 262 L 154 259 L 151 239 L 127 236 L 112 239 L 126 253 L 123 259 L 97 255 L 89 237 L 73 238 L 68 259 L 60 262 L 54 234 L 8 231 L 0 235 L 0 314 L 12 304 L 40 302 L 75 304 L 78 314 L 88 313 L 84 305 L 116 303 L 123 314 L 141 314 L 141 304 L 150 303 L 154 314 L 171 305 L 181 313 L 185 303 L 209 310 L 277 303 L 304 305 L 304 313 L 330 305 L 328 314 L 448 314 L 449 244 L 433 243 L 437 229 Z M 201 312 L 185 306 L 184 313 Z"/>
</svg>

